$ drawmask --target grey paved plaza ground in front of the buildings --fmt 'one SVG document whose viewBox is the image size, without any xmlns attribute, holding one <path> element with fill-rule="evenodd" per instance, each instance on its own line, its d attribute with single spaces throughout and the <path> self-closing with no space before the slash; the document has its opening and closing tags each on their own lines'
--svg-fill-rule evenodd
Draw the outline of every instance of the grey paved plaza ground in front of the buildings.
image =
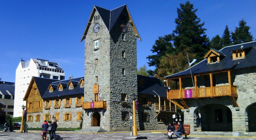
<svg viewBox="0 0 256 140">
<path fill-rule="evenodd" d="M 19 133 L 19 132 L 0 132 L 0 140 L 40 140 L 41 133 Z M 63 140 L 123 140 L 135 139 L 136 137 L 130 136 L 129 133 L 102 133 L 102 134 L 85 134 L 85 133 L 58 133 Z M 146 136 L 149 140 L 168 139 L 162 133 L 138 133 L 140 136 Z M 174 137 L 173 139 L 176 139 Z M 190 140 L 256 140 L 256 138 L 228 138 L 228 137 L 196 137 L 188 136 Z"/>
</svg>

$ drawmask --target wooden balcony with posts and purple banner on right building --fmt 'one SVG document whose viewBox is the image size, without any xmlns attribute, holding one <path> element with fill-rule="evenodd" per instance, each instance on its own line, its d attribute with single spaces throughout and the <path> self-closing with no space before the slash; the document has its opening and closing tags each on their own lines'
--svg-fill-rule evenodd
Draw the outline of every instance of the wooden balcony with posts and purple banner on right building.
<svg viewBox="0 0 256 140">
<path fill-rule="evenodd" d="M 232 85 L 231 71 L 201 73 L 191 76 L 179 76 L 166 79 L 167 99 L 175 103 L 180 100 L 186 107 L 187 98 L 207 98 L 230 96 L 235 106 L 236 86 Z M 182 107 L 183 108 L 183 107 Z"/>
</svg>

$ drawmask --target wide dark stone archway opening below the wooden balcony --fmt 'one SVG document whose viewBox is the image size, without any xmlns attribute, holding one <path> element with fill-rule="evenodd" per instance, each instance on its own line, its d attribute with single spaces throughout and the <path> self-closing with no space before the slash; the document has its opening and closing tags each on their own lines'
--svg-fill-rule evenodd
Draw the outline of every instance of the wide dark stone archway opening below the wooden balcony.
<svg viewBox="0 0 256 140">
<path fill-rule="evenodd" d="M 232 112 L 222 104 L 209 104 L 198 107 L 194 111 L 197 115 L 198 110 L 201 114 L 201 131 L 233 131 Z"/>
</svg>

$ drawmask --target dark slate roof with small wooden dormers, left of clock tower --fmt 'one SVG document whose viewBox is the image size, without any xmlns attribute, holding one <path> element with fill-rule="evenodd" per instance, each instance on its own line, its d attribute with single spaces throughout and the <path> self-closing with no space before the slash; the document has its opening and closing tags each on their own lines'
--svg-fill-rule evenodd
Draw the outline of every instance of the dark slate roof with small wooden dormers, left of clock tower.
<svg viewBox="0 0 256 140">
<path fill-rule="evenodd" d="M 68 82 L 71 81 L 73 84 L 77 85 L 81 78 L 84 79 L 84 77 L 79 77 L 79 78 L 74 78 L 74 79 L 53 82 L 52 84 L 58 85 L 59 82 L 61 82 L 62 86 L 64 86 L 63 84 L 65 84 L 65 86 L 67 86 Z M 84 88 L 80 88 L 80 86 L 74 86 L 74 89 L 63 88 L 62 91 L 59 91 L 56 88 L 55 90 L 53 90 L 53 92 L 49 92 L 49 89 L 47 89 L 47 91 L 45 92 L 45 94 L 43 96 L 43 99 L 54 98 L 54 97 L 58 97 L 58 96 L 60 96 L 60 97 L 61 96 L 69 96 L 69 95 L 75 95 L 75 94 L 84 94 Z"/>
</svg>

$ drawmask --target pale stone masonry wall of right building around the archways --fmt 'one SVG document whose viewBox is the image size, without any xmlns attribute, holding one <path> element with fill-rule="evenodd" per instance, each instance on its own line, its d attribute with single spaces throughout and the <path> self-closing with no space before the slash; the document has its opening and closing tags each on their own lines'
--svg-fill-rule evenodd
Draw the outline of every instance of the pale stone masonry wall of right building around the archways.
<svg viewBox="0 0 256 140">
<path fill-rule="evenodd" d="M 223 76 L 218 77 L 223 78 Z M 225 79 L 222 81 L 225 81 Z M 203 107 L 209 104 L 222 104 L 231 110 L 233 131 L 248 131 L 248 117 L 246 109 L 249 105 L 256 102 L 255 67 L 232 70 L 231 81 L 233 82 L 233 85 L 237 86 L 238 98 L 236 99 L 236 102 L 239 107 L 235 107 L 233 105 L 229 96 L 186 100 L 189 109 L 183 110 L 184 124 L 190 124 L 191 131 L 196 131 L 195 115 L 198 107 Z"/>
</svg>

